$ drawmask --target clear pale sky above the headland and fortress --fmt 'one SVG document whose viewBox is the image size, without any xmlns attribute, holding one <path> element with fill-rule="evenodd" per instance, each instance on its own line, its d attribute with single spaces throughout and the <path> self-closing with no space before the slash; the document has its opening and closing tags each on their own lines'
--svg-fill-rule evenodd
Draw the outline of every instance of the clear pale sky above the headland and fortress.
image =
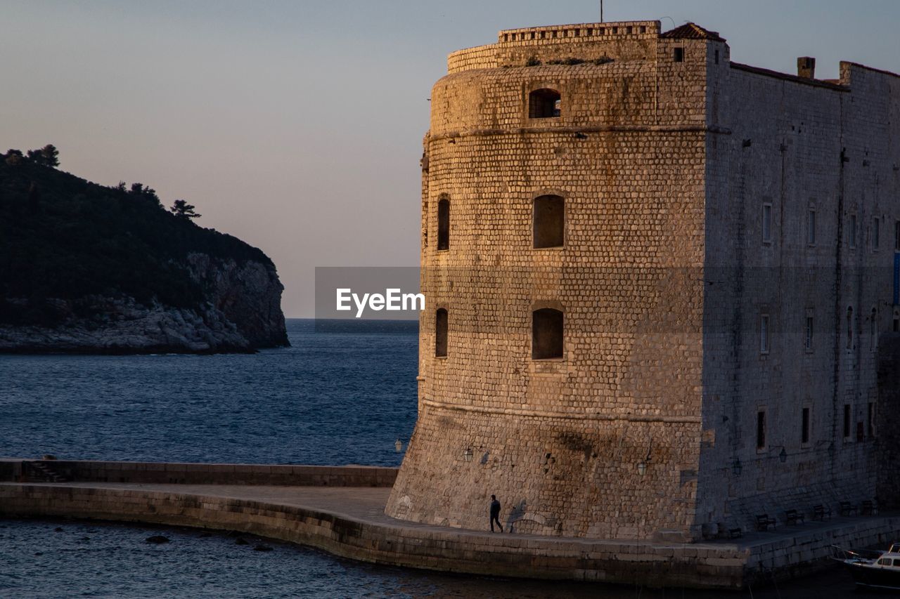
<svg viewBox="0 0 900 599">
<path fill-rule="evenodd" d="M 0 0 L 0 151 L 59 148 L 261 247 L 284 313 L 315 266 L 419 260 L 419 156 L 446 54 L 515 27 L 599 21 L 599 1 Z M 608 21 L 693 21 L 738 62 L 900 72 L 897 0 L 607 0 Z M 662 17 L 670 17 L 664 19 Z"/>
</svg>

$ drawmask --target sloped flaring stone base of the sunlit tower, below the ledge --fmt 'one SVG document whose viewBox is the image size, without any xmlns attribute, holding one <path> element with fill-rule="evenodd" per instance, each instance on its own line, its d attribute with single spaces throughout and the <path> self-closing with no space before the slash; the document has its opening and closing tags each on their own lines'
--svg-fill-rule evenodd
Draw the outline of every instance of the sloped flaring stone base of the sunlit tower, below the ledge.
<svg viewBox="0 0 900 599">
<path fill-rule="evenodd" d="M 698 424 L 529 415 L 424 401 L 385 509 L 475 530 L 691 541 Z"/>
</svg>

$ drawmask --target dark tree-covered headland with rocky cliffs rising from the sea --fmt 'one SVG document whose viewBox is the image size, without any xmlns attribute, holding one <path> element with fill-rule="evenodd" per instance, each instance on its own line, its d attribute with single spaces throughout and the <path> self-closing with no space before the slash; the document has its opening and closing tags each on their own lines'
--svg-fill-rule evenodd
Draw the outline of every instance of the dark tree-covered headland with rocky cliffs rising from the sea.
<svg viewBox="0 0 900 599">
<path fill-rule="evenodd" d="M 0 353 L 287 345 L 272 260 L 175 212 L 141 183 L 0 155 Z"/>
</svg>

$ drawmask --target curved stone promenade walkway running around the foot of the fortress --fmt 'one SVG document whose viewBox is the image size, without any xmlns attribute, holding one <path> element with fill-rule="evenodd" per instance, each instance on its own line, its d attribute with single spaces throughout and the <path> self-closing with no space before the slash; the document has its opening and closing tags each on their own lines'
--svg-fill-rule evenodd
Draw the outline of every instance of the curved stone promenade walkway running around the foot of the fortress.
<svg viewBox="0 0 900 599">
<path fill-rule="evenodd" d="M 900 516 L 886 514 L 779 527 L 734 541 L 542 537 L 396 520 L 383 513 L 389 494 L 388 487 L 6 482 L 0 483 L 0 515 L 235 530 L 351 559 L 451 572 L 715 588 L 738 588 L 784 568 L 795 574 L 821 568 L 832 544 L 890 541 L 900 531 Z"/>
</svg>

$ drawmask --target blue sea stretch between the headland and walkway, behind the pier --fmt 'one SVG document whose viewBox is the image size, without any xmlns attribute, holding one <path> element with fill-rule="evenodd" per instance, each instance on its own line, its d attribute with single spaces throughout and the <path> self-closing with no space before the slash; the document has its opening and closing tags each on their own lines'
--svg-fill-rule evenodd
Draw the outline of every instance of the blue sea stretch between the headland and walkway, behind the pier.
<svg viewBox="0 0 900 599">
<path fill-rule="evenodd" d="M 0 456 L 396 466 L 416 326 L 291 319 L 292 347 L 251 355 L 0 355 Z"/>
</svg>

